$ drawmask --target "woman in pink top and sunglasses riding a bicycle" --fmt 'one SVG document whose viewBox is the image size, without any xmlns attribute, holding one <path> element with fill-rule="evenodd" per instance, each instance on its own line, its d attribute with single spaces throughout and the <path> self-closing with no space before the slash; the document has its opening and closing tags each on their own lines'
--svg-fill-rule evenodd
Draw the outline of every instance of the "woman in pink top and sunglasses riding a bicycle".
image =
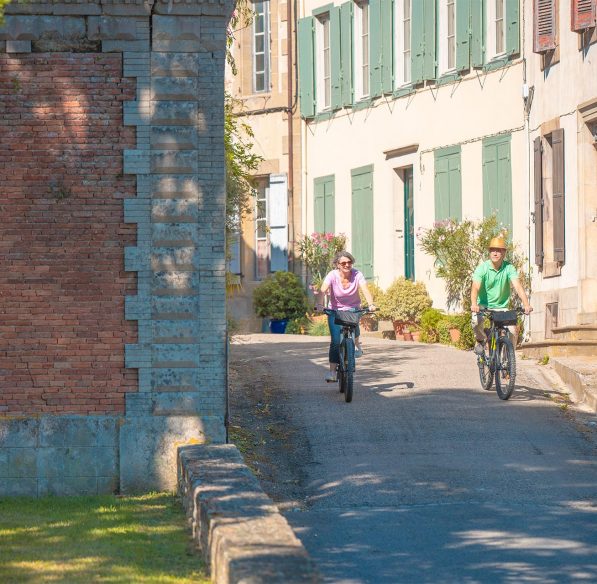
<svg viewBox="0 0 597 584">
<path fill-rule="evenodd" d="M 333 310 L 358 310 L 361 308 L 361 297 L 359 290 L 363 292 L 369 310 L 374 311 L 373 297 L 367 287 L 367 281 L 359 270 L 354 269 L 354 257 L 347 251 L 340 251 L 334 257 L 334 269 L 327 274 L 321 285 L 321 292 L 324 295 L 329 293 L 330 308 Z M 340 362 L 340 336 L 342 327 L 334 322 L 334 317 L 328 315 L 328 326 L 330 329 L 330 371 L 325 376 L 329 383 L 336 381 L 336 370 Z M 360 330 L 357 326 L 355 333 L 355 357 L 363 354 L 361 346 Z"/>
</svg>

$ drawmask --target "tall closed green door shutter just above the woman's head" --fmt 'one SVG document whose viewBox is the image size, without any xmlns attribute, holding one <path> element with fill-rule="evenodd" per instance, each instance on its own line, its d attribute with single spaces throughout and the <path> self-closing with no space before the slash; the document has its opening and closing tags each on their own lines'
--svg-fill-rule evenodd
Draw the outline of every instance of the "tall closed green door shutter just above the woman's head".
<svg viewBox="0 0 597 584">
<path fill-rule="evenodd" d="M 373 278 L 373 165 L 352 172 L 352 253 L 356 267 Z"/>
</svg>

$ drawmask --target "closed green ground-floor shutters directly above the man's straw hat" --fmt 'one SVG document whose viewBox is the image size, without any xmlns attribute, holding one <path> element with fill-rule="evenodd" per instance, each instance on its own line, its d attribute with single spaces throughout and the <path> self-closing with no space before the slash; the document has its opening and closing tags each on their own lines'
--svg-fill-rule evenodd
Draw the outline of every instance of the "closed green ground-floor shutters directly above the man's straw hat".
<svg viewBox="0 0 597 584">
<path fill-rule="evenodd" d="M 483 141 L 483 215 L 495 214 L 512 233 L 512 163 L 510 136 Z"/>
</svg>

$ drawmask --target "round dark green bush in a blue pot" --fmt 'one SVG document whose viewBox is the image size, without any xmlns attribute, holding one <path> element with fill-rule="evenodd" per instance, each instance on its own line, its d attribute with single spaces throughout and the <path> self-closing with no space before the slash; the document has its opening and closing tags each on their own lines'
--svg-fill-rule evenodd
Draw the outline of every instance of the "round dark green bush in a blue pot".
<svg viewBox="0 0 597 584">
<path fill-rule="evenodd" d="M 307 296 L 294 274 L 276 272 L 255 288 L 253 306 L 257 316 L 271 319 L 273 333 L 284 333 L 288 320 L 305 316 Z"/>
</svg>

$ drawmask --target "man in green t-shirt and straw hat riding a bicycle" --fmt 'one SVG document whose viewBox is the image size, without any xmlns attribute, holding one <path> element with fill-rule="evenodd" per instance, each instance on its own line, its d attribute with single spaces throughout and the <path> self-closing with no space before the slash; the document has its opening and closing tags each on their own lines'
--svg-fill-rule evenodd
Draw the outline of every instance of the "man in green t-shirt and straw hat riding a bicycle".
<svg viewBox="0 0 597 584">
<path fill-rule="evenodd" d="M 477 355 L 483 354 L 485 345 L 483 315 L 479 314 L 481 309 L 508 310 L 510 287 L 512 287 L 522 302 L 525 314 L 530 314 L 533 310 L 518 279 L 518 271 L 504 259 L 505 256 L 506 242 L 501 237 L 494 237 L 489 242 L 489 259 L 477 266 L 473 273 L 471 311 L 472 326 L 477 341 L 475 345 Z M 509 326 L 508 333 L 512 346 L 516 347 L 516 328 Z"/>
</svg>

